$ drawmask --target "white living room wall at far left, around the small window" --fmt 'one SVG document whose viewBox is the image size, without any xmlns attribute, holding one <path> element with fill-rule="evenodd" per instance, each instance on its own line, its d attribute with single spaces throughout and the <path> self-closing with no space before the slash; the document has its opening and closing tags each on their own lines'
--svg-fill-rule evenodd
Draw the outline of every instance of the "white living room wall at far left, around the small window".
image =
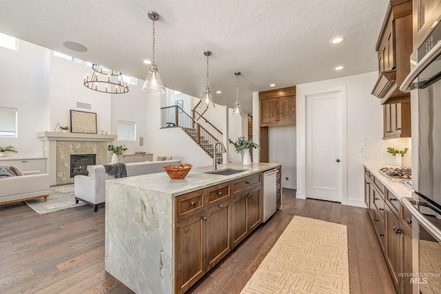
<svg viewBox="0 0 441 294">
<path fill-rule="evenodd" d="M 43 156 L 37 132 L 49 127 L 49 54 L 39 46 L 19 41 L 19 51 L 0 47 L 0 106 L 17 108 L 18 138 L 0 138 L 12 145 L 10 158 Z"/>
</svg>

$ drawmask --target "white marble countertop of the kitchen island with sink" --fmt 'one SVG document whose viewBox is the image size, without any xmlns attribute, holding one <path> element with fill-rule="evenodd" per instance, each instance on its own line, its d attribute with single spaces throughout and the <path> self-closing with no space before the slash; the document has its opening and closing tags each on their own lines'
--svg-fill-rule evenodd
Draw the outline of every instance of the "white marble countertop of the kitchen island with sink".
<svg viewBox="0 0 441 294">
<path fill-rule="evenodd" d="M 212 166 L 196 168 L 193 167 L 183 180 L 172 180 L 169 178 L 169 176 L 167 176 L 165 172 L 163 172 L 158 174 L 132 176 L 128 178 L 119 178 L 107 181 L 115 182 L 121 185 L 138 187 L 140 189 L 165 193 L 172 196 L 179 196 L 199 189 L 204 189 L 206 187 L 218 185 L 223 182 L 228 182 L 230 180 L 236 180 L 236 178 L 242 178 L 251 174 L 274 169 L 274 167 L 278 166 L 280 166 L 280 163 L 252 162 L 252 165 L 242 165 L 242 162 L 229 162 L 218 165 L 218 170 L 234 168 L 246 169 L 246 171 L 229 176 L 221 176 L 214 174 L 204 174 L 207 171 L 212 171 Z"/>
</svg>

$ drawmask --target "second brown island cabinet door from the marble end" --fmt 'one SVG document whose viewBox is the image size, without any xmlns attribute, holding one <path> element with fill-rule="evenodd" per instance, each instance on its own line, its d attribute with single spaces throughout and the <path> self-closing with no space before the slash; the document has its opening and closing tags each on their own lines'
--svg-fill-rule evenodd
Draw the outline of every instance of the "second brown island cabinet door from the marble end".
<svg viewBox="0 0 441 294">
<path fill-rule="evenodd" d="M 232 250 L 232 200 L 207 209 L 207 271 Z"/>
</svg>

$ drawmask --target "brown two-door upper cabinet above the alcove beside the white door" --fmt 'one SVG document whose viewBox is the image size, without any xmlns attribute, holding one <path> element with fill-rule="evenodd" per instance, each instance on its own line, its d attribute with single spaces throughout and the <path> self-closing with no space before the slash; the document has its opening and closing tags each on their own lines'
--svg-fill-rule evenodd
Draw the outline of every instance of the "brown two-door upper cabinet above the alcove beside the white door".
<svg viewBox="0 0 441 294">
<path fill-rule="evenodd" d="M 296 125 L 296 86 L 259 92 L 260 127 Z"/>
</svg>

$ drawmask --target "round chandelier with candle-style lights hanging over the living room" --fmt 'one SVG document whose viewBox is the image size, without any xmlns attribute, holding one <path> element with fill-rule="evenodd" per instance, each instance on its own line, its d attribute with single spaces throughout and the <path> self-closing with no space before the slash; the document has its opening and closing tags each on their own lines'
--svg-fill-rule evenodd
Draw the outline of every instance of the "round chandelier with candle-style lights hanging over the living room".
<svg viewBox="0 0 441 294">
<path fill-rule="evenodd" d="M 103 72 L 101 65 L 92 64 L 92 78 L 89 74 L 84 77 L 84 85 L 90 90 L 110 93 L 110 94 L 125 94 L 129 92 L 129 85 L 124 83 L 123 74 L 121 72 Z"/>
</svg>

